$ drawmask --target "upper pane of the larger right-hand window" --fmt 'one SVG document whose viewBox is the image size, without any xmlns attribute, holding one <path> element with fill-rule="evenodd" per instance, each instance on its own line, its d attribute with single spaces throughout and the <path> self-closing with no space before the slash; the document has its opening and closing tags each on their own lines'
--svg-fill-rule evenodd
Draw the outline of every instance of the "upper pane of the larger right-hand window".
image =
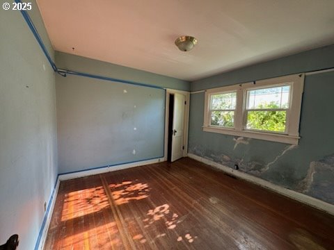
<svg viewBox="0 0 334 250">
<path fill-rule="evenodd" d="M 247 90 L 247 109 L 289 108 L 290 85 Z"/>
</svg>

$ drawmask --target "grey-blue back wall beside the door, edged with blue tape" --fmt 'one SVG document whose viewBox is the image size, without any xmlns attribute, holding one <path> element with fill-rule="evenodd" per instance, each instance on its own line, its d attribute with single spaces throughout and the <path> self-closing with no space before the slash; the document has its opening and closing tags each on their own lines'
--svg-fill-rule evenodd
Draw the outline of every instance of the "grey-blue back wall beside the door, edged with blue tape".
<svg viewBox="0 0 334 250">
<path fill-rule="evenodd" d="M 177 90 L 189 82 L 56 52 L 58 68 Z M 164 156 L 165 90 L 56 76 L 61 174 Z"/>
</svg>

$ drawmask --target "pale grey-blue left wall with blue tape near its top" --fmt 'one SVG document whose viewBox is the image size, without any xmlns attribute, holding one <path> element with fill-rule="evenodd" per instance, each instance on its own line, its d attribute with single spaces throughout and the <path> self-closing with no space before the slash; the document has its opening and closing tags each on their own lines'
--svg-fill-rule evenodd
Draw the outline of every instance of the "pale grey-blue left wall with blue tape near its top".
<svg viewBox="0 0 334 250">
<path fill-rule="evenodd" d="M 54 56 L 31 2 L 29 15 Z M 34 249 L 58 174 L 55 78 L 18 10 L 0 8 L 0 34 L 0 244 L 18 233 L 19 249 Z"/>
</svg>

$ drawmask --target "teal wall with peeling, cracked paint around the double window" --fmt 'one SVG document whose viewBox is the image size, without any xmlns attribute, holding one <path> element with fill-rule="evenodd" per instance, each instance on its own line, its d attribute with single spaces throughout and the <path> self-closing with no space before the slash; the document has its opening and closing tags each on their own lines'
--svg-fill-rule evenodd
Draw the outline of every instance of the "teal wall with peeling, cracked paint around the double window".
<svg viewBox="0 0 334 250">
<path fill-rule="evenodd" d="M 334 45 L 196 81 L 191 89 L 333 66 Z M 238 164 L 239 171 L 334 204 L 333 93 L 334 72 L 305 76 L 297 146 L 203 132 L 205 94 L 191 94 L 189 153 L 228 167 Z"/>
</svg>

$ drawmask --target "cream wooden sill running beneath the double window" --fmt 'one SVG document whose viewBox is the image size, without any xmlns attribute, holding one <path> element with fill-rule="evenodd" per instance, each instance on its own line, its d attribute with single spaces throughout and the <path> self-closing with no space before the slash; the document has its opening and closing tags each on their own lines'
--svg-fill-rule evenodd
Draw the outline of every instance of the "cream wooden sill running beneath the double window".
<svg viewBox="0 0 334 250">
<path fill-rule="evenodd" d="M 282 135 L 278 133 L 263 133 L 257 131 L 236 131 L 232 128 L 216 128 L 212 126 L 202 126 L 203 131 L 210 133 L 221 133 L 225 135 L 235 135 L 245 138 L 253 138 L 258 140 L 267 140 L 271 142 L 282 142 L 287 144 L 298 145 L 299 136 Z"/>
</svg>

